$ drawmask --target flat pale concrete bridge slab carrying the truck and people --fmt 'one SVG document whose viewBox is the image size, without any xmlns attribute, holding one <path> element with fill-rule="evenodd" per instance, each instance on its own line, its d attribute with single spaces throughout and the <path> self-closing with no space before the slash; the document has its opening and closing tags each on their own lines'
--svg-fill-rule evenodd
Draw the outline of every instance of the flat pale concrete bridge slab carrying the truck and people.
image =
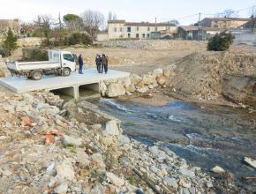
<svg viewBox="0 0 256 194">
<path fill-rule="evenodd" d="M 95 68 L 88 68 L 84 70 L 84 74 L 72 72 L 68 77 L 45 76 L 41 80 L 17 77 L 0 78 L 0 85 L 7 87 L 14 93 L 49 90 L 64 93 L 78 99 L 81 90 L 93 90 L 99 93 L 100 81 L 126 78 L 129 75 L 129 72 L 114 70 L 109 70 L 108 74 L 98 73 Z"/>
</svg>

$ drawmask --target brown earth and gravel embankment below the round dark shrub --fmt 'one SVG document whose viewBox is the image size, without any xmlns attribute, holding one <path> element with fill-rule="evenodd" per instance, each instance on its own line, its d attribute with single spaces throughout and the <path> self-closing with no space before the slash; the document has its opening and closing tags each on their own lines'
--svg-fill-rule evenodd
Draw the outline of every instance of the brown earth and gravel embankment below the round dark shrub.
<svg viewBox="0 0 256 194">
<path fill-rule="evenodd" d="M 193 53 L 176 66 L 174 76 L 169 78 L 171 93 L 194 100 L 216 101 L 222 97 L 226 75 L 256 75 L 256 56 L 239 52 Z"/>
</svg>

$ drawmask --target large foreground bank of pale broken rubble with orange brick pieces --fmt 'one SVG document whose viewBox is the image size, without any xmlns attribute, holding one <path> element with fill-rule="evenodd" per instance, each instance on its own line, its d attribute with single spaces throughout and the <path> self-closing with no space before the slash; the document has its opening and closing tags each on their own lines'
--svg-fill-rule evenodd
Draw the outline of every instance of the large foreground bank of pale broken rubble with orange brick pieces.
<svg viewBox="0 0 256 194">
<path fill-rule="evenodd" d="M 1 193 L 213 192 L 200 168 L 122 135 L 93 104 L 47 92 L 0 97 Z"/>
</svg>

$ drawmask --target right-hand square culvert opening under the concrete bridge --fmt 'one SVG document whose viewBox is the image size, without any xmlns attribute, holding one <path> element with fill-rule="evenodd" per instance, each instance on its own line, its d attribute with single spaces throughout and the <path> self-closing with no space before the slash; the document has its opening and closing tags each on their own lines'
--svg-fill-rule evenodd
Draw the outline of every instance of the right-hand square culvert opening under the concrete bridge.
<svg viewBox="0 0 256 194">
<path fill-rule="evenodd" d="M 100 95 L 99 84 L 88 84 L 79 86 L 79 98 L 83 99 L 91 99 L 91 98 L 99 98 Z"/>
</svg>

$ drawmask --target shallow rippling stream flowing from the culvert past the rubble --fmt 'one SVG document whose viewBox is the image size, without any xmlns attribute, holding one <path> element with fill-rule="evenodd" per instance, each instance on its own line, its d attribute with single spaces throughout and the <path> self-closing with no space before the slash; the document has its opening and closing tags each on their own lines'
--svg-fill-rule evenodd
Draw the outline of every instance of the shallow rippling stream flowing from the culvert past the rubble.
<svg viewBox="0 0 256 194">
<path fill-rule="evenodd" d="M 256 159 L 256 124 L 243 109 L 200 107 L 185 101 L 170 101 L 162 107 L 109 99 L 94 103 L 120 119 L 125 134 L 144 144 L 167 146 L 207 171 L 219 165 L 237 180 L 256 175 L 243 162 L 245 156 Z M 256 183 L 250 187 L 256 190 Z"/>
</svg>

